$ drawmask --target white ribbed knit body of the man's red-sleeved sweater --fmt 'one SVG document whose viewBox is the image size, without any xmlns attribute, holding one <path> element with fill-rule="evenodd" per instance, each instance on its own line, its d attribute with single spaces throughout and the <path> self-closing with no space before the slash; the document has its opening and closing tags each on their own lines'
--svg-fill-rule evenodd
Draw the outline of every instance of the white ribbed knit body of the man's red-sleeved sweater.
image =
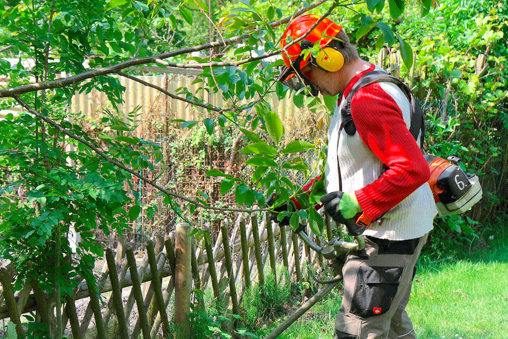
<svg viewBox="0 0 508 339">
<path fill-rule="evenodd" d="M 379 82 L 397 103 L 407 128 L 410 125 L 409 102 L 399 87 L 389 82 Z M 328 151 L 325 168 L 326 191 L 334 192 L 339 188 L 339 172 L 342 179 L 342 191 L 355 194 L 356 190 L 376 180 L 383 171 L 383 163 L 363 143 L 358 135 L 350 136 L 342 130 L 338 135 L 341 115 L 340 109 L 345 103 L 342 98 L 340 106 L 335 108 L 328 129 Z M 375 124 L 375 117 L 373 118 Z M 432 223 L 437 209 L 428 183 L 386 212 L 381 219 L 372 222 L 364 232 L 376 238 L 406 240 L 423 236 L 432 230 Z"/>
</svg>

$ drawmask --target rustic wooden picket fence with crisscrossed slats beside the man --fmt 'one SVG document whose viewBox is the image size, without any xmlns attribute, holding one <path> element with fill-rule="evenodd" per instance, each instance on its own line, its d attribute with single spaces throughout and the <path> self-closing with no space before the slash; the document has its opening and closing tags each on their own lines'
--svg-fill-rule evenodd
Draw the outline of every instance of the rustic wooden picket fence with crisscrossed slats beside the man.
<svg viewBox="0 0 508 339">
<path fill-rule="evenodd" d="M 187 312 L 195 289 L 205 291 L 211 285 L 213 297 L 227 300 L 230 312 L 240 314 L 243 293 L 254 282 L 264 284 L 265 271 L 271 271 L 277 281 L 288 276 L 285 270 L 292 281 L 305 280 L 302 273 L 305 262 L 316 267 L 323 262 L 322 257 L 311 252 L 289 227 L 272 225 L 267 214 L 263 217 L 259 223 L 256 213 L 241 214 L 234 225 L 224 222 L 215 244 L 207 237 L 196 241 L 194 236 L 189 236 L 190 226 L 178 224 L 174 233 L 154 234 L 146 244 L 146 254 L 140 263 L 136 262 L 133 243 L 125 243 L 125 237 L 121 238 L 116 251 L 106 249 L 107 264 L 97 286 L 81 282 L 74 297 L 65 300 L 63 328 L 69 323 L 72 337 L 84 338 L 93 317 L 97 337 L 106 339 L 108 323 L 115 314 L 115 335 L 121 338 L 138 338 L 140 334 L 145 339 L 153 338 L 161 327 L 165 337 L 174 331 L 175 337 L 184 338 L 188 337 Z M 331 237 L 329 227 L 327 234 Z M 324 241 L 317 237 L 314 240 Z M 20 316 L 36 311 L 44 317 L 39 306 L 45 300 L 35 289 L 30 293 L 31 285 L 14 295 L 11 279 L 12 274 L 0 268 L 3 286 L 0 319 L 10 318 L 18 335 L 22 335 Z M 129 286 L 132 288 L 128 298 L 122 299 L 122 288 Z M 111 292 L 106 309 L 101 310 L 97 292 Z M 76 301 L 84 298 L 89 301 L 84 315 L 78 319 Z M 134 304 L 138 317 L 133 328 L 127 322 Z M 171 315 L 173 329 L 170 329 Z"/>
</svg>

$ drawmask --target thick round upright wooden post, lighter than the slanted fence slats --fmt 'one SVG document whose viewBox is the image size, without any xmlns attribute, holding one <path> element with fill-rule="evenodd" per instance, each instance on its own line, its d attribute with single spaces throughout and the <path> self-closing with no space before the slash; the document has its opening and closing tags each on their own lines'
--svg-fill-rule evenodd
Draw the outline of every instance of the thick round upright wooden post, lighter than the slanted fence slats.
<svg viewBox="0 0 508 339">
<path fill-rule="evenodd" d="M 175 339 L 187 338 L 189 324 L 187 312 L 190 309 L 190 288 L 192 273 L 190 263 L 190 225 L 176 225 L 175 233 Z"/>
</svg>

